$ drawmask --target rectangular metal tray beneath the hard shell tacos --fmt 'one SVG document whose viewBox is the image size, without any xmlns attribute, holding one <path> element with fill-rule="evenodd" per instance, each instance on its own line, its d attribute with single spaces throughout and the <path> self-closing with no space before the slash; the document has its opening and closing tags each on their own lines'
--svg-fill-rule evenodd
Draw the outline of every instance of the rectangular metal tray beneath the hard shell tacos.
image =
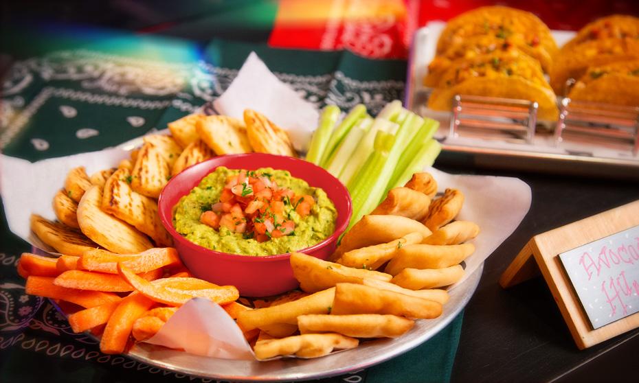
<svg viewBox="0 0 639 383">
<path fill-rule="evenodd" d="M 440 121 L 435 138 L 442 143 L 438 163 L 460 163 L 464 166 L 491 169 L 526 170 L 556 174 L 579 174 L 612 178 L 639 179 L 639 156 L 629 150 L 614 150 L 594 139 L 586 143 L 554 142 L 554 122 L 537 125 L 531 143 L 511 143 L 481 137 L 449 137 L 452 112 L 433 111 L 426 107 L 431 89 L 423 86 L 427 66 L 445 23 L 434 21 L 415 32 L 407 68 L 405 107 L 425 117 Z M 561 47 L 575 32 L 552 31 Z"/>
</svg>

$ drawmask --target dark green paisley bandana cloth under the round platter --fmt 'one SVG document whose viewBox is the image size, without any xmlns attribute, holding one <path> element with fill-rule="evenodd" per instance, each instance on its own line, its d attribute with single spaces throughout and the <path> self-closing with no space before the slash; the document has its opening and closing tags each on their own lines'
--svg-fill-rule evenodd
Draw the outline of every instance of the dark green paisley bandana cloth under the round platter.
<svg viewBox="0 0 639 383">
<path fill-rule="evenodd" d="M 0 104 L 4 154 L 36 161 L 100 150 L 166 128 L 168 121 L 221 95 L 250 51 L 318 106 L 330 102 L 348 109 L 363 103 L 375 114 L 385 102 L 401 99 L 404 88 L 404 61 L 223 40 L 200 47 L 122 34 L 98 37 L 13 65 Z M 192 380 L 100 353 L 91 338 L 73 334 L 48 301 L 26 295 L 14 265 L 30 246 L 8 231 L 4 213 L 1 216 L 1 382 Z M 399 358 L 326 381 L 447 381 L 461 323 L 460 315 L 432 340 Z"/>
</svg>

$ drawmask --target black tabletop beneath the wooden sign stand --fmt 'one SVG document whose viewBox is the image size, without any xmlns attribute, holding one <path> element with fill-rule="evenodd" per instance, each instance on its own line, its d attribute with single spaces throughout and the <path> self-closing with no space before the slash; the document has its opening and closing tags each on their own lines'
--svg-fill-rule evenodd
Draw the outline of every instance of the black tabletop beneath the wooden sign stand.
<svg viewBox="0 0 639 383">
<path fill-rule="evenodd" d="M 34 2 L 25 1 L 22 5 L 21 3 L 7 5 L 8 3 L 3 2 L 3 8 L 23 11 L 28 8 L 29 3 Z M 40 1 L 35 3 L 43 4 Z M 142 3 L 148 4 L 147 1 Z M 46 7 L 38 9 L 40 9 L 37 12 L 38 16 L 47 14 Z M 74 11 L 69 7 L 63 8 L 65 13 L 61 16 L 62 21 L 77 19 L 85 21 L 86 18 L 76 17 L 78 13 L 89 12 L 82 9 Z M 114 24 L 109 21 L 108 12 L 91 14 L 100 25 L 132 30 L 170 21 L 170 17 L 159 17 L 146 23 L 118 22 Z M 188 23 L 189 14 L 179 16 L 186 19 L 185 22 Z M 3 18 L 10 19 L 10 17 L 10 14 L 4 12 Z M 205 36 L 200 37 L 210 38 L 213 32 L 214 30 L 210 29 L 201 31 L 200 33 Z M 170 34 L 170 32 L 164 33 Z M 192 35 L 188 36 L 189 38 L 198 38 L 197 31 L 191 30 L 190 33 Z M 240 34 L 234 37 L 242 36 Z M 255 40 L 256 34 L 247 34 L 246 37 Z M 436 166 L 452 173 L 517 176 L 528 183 L 533 191 L 533 203 L 522 224 L 486 261 L 480 285 L 464 314 L 452 380 L 454 382 L 632 380 L 632 374 L 636 371 L 634 356 L 639 348 L 637 336 L 639 330 L 579 351 L 542 278 L 533 279 L 509 290 L 503 290 L 497 281 L 530 237 L 637 200 L 639 183 L 601 180 L 594 177 L 485 170 L 477 168 L 471 161 L 466 161 L 463 165 L 459 165 L 458 161 L 448 161 L 447 156 L 440 157 Z"/>
</svg>

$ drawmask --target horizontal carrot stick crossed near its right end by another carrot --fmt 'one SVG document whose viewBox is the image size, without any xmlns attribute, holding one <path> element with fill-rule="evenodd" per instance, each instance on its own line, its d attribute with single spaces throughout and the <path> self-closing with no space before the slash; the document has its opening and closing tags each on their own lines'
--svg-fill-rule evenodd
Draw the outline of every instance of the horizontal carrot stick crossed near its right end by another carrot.
<svg viewBox="0 0 639 383">
<path fill-rule="evenodd" d="M 156 279 L 161 270 L 152 270 L 142 273 L 144 279 Z M 95 290 L 111 292 L 133 291 L 133 286 L 127 283 L 120 275 L 104 274 L 85 270 L 67 270 L 58 275 L 54 280 L 56 286 L 65 288 L 77 288 L 78 290 Z"/>
</svg>

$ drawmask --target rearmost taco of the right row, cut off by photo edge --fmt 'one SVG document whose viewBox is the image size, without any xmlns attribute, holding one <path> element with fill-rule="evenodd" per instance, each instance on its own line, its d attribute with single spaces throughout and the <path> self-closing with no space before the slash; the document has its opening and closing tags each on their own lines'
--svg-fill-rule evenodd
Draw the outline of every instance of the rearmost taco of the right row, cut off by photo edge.
<svg viewBox="0 0 639 383">
<path fill-rule="evenodd" d="M 606 38 L 639 38 L 639 18 L 613 14 L 597 19 L 581 28 L 576 36 L 561 48 L 561 51 L 568 51 L 588 41 Z"/>
</svg>

